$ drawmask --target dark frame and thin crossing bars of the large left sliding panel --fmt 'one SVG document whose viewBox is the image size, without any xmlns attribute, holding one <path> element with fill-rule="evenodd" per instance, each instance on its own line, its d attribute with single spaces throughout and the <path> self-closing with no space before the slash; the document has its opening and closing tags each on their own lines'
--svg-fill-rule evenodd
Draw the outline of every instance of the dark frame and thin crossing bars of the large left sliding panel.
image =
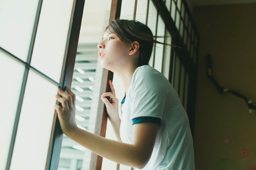
<svg viewBox="0 0 256 170">
<path fill-rule="evenodd" d="M 5 53 L 9 54 L 10 57 L 12 57 L 14 60 L 18 61 L 19 63 L 21 63 L 25 66 L 23 82 L 21 85 L 19 101 L 18 101 L 18 106 L 17 106 L 17 111 L 16 111 L 16 117 L 15 117 L 15 122 L 14 122 L 14 128 L 13 128 L 13 134 L 12 134 L 12 138 L 11 138 L 11 142 L 10 142 L 9 153 L 8 153 L 8 157 L 7 157 L 5 170 L 10 169 L 10 164 L 11 164 L 12 154 L 13 154 L 13 149 L 14 149 L 14 143 L 15 143 L 15 138 L 16 138 L 16 134 L 17 134 L 18 122 L 19 122 L 20 112 L 21 112 L 21 108 L 22 108 L 22 102 L 23 102 L 23 98 L 24 98 L 24 93 L 25 93 L 29 70 L 33 70 L 34 72 L 36 72 L 37 74 L 39 74 L 40 76 L 45 78 L 46 81 L 49 81 L 49 82 L 55 84 L 56 87 L 58 87 L 58 86 L 61 87 L 62 90 L 65 90 L 66 86 L 69 86 L 69 87 L 71 86 L 74 63 L 75 63 L 75 59 L 76 59 L 78 38 L 79 38 L 79 33 L 80 33 L 80 28 L 81 28 L 84 0 L 73 0 L 70 24 L 69 24 L 69 31 L 68 31 L 68 36 L 67 36 L 65 54 L 64 54 L 64 58 L 63 58 L 63 64 L 62 64 L 62 70 L 61 70 L 61 76 L 60 76 L 59 82 L 56 82 L 55 80 L 51 79 L 49 76 L 45 75 L 44 73 L 40 72 L 39 70 L 37 70 L 36 68 L 34 68 L 30 65 L 33 47 L 34 47 L 34 43 L 35 43 L 37 27 L 38 27 L 38 22 L 39 22 L 39 17 L 40 17 L 41 7 L 42 7 L 42 0 L 39 0 L 38 6 L 37 6 L 36 17 L 35 17 L 35 23 L 34 23 L 30 46 L 29 46 L 29 51 L 28 51 L 28 57 L 27 57 L 26 62 L 19 59 L 18 57 L 14 56 L 10 52 L 8 52 L 5 49 L 0 47 L 0 49 L 3 50 Z M 47 160 L 46 160 L 46 165 L 45 165 L 46 170 L 55 170 L 58 168 L 59 155 L 60 155 L 60 149 L 61 149 L 61 143 L 62 143 L 62 137 L 63 137 L 63 133 L 61 131 L 59 121 L 57 118 L 57 112 L 55 111 L 53 113 L 54 113 L 54 120 L 53 120 L 53 124 L 52 124 Z"/>
</svg>

